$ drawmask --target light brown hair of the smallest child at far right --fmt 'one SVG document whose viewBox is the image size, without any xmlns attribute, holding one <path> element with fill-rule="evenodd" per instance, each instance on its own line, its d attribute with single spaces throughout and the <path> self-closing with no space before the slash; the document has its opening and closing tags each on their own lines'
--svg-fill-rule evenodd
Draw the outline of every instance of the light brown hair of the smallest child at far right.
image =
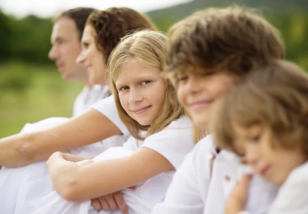
<svg viewBox="0 0 308 214">
<path fill-rule="evenodd" d="M 307 74 L 282 60 L 247 74 L 215 103 L 210 121 L 217 146 L 236 152 L 234 124 L 267 127 L 273 146 L 300 148 L 308 157 Z"/>
</svg>

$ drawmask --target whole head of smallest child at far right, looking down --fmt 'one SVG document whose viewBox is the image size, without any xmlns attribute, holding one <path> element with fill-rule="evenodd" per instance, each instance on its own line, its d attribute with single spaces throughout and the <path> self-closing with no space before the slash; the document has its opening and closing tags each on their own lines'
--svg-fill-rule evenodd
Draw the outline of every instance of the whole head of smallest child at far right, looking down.
<svg viewBox="0 0 308 214">
<path fill-rule="evenodd" d="M 282 184 L 308 158 L 308 76 L 285 61 L 251 72 L 214 105 L 210 128 L 218 147 Z"/>
</svg>

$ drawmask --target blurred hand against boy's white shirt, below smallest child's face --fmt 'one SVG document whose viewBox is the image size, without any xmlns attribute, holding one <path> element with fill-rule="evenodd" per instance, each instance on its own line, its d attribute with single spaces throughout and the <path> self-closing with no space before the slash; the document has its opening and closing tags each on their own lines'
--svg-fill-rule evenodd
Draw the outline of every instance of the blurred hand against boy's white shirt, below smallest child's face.
<svg viewBox="0 0 308 214">
<path fill-rule="evenodd" d="M 244 175 L 241 181 L 230 192 L 226 201 L 225 214 L 237 214 L 244 210 L 251 178 L 252 175 Z"/>
</svg>

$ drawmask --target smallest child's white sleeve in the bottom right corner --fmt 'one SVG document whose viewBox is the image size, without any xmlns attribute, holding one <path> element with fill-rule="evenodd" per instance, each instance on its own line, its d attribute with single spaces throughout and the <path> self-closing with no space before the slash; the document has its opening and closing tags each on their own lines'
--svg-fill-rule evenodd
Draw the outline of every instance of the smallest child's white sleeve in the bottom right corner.
<svg viewBox="0 0 308 214">
<path fill-rule="evenodd" d="M 269 214 L 308 213 L 308 165 L 296 168 L 280 187 Z"/>
</svg>

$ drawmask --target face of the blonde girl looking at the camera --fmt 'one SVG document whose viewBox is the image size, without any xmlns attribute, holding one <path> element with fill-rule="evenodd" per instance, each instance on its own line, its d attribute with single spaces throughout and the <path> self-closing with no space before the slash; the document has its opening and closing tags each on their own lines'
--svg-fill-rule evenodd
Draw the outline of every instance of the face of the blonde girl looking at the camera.
<svg viewBox="0 0 308 214">
<path fill-rule="evenodd" d="M 150 125 L 162 111 L 166 96 L 162 70 L 127 62 L 115 81 L 125 112 L 141 125 Z"/>
</svg>

